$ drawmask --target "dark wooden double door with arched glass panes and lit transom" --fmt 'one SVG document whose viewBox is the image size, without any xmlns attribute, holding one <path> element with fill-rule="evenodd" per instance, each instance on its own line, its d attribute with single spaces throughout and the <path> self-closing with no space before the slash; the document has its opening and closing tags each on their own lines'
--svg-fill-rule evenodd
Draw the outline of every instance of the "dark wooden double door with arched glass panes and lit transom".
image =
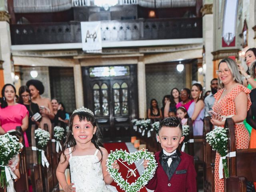
<svg viewBox="0 0 256 192">
<path fill-rule="evenodd" d="M 130 140 L 131 120 L 138 116 L 136 65 L 84 67 L 83 76 L 84 103 L 104 141 Z"/>
</svg>

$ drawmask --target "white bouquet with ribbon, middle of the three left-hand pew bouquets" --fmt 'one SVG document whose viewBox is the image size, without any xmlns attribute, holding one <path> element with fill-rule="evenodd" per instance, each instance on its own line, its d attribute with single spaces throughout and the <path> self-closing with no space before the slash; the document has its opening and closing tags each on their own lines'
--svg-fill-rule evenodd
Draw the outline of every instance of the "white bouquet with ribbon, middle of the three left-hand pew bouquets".
<svg viewBox="0 0 256 192">
<path fill-rule="evenodd" d="M 49 166 L 44 150 L 50 141 L 50 133 L 38 128 L 35 130 L 36 148 L 38 148 L 38 164 Z"/>
</svg>

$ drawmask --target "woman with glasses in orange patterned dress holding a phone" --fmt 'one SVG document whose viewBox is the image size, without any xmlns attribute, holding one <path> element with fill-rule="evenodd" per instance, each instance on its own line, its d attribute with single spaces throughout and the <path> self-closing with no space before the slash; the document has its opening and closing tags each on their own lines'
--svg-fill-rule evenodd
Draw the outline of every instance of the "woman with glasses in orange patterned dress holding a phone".
<svg viewBox="0 0 256 192">
<path fill-rule="evenodd" d="M 243 121 L 251 105 L 250 90 L 242 85 L 238 67 L 232 59 L 221 60 L 217 74 L 222 89 L 214 95 L 215 102 L 212 109 L 218 116 L 212 116 L 211 122 L 215 126 L 224 127 L 226 118 L 232 117 L 235 122 L 236 149 L 246 149 L 249 147 L 250 135 Z M 215 191 L 224 192 L 224 179 L 219 178 L 219 163 L 220 154 L 216 153 L 214 167 Z"/>
</svg>

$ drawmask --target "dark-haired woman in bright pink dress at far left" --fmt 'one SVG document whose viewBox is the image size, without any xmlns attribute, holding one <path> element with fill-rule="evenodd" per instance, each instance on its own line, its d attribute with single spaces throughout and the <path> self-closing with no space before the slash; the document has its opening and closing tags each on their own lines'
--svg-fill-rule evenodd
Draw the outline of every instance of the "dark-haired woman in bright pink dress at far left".
<svg viewBox="0 0 256 192">
<path fill-rule="evenodd" d="M 28 147 L 26 129 L 28 128 L 28 110 L 24 105 L 15 102 L 16 89 L 12 84 L 5 84 L 2 88 L 0 107 L 0 134 L 3 135 L 16 126 L 21 126 L 24 132 L 25 146 Z"/>
</svg>

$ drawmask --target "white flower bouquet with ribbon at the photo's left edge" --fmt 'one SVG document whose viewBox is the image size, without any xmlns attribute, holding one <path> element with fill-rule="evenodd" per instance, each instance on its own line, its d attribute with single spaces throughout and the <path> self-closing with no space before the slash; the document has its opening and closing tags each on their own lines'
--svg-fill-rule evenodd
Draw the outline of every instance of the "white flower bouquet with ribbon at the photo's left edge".
<svg viewBox="0 0 256 192">
<path fill-rule="evenodd" d="M 6 178 L 6 170 L 9 160 L 14 158 L 17 154 L 19 154 L 20 150 L 23 148 L 22 143 L 19 142 L 16 136 L 12 136 L 8 133 L 0 136 L 0 187 L 4 188 L 4 186 L 8 185 L 8 180 Z"/>
</svg>

